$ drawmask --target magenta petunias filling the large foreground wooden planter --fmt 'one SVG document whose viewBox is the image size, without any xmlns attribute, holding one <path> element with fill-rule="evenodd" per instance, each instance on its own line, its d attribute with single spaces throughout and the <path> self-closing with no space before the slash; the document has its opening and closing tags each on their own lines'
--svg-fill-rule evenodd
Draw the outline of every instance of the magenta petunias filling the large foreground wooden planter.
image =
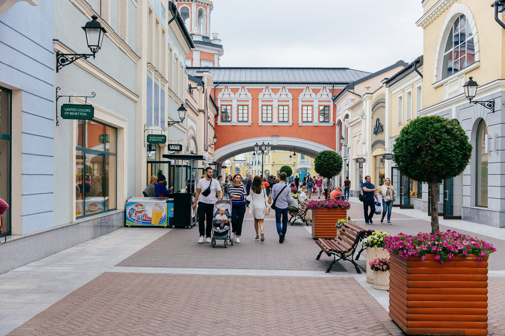
<svg viewBox="0 0 505 336">
<path fill-rule="evenodd" d="M 470 254 L 477 255 L 477 261 L 482 261 L 482 257 L 489 256 L 496 249 L 484 240 L 470 237 L 456 231 L 425 233 L 420 232 L 417 236 L 400 233 L 397 236 L 385 238 L 384 248 L 391 255 L 396 255 L 401 259 L 410 256 L 426 259 L 427 254 L 434 254 L 435 260 L 444 263 L 445 260 L 453 259 L 460 255 L 466 257 Z"/>
</svg>

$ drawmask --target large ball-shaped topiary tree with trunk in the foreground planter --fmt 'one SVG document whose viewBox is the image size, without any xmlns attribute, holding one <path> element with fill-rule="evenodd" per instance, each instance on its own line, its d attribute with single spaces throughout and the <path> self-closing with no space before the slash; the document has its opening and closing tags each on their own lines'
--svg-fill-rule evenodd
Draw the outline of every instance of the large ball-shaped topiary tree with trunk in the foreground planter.
<svg viewBox="0 0 505 336">
<path fill-rule="evenodd" d="M 468 165 L 471 144 L 457 120 L 436 115 L 416 118 L 400 132 L 393 148 L 398 170 L 431 189 L 431 232 L 438 229 L 438 184 Z"/>
</svg>

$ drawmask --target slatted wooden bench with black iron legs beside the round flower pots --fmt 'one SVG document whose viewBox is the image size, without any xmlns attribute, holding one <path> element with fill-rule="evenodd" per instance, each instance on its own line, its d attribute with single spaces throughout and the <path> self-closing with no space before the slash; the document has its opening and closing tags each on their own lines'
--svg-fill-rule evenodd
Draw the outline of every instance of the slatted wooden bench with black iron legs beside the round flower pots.
<svg viewBox="0 0 505 336">
<path fill-rule="evenodd" d="M 361 249 L 359 249 L 356 259 L 354 259 L 354 254 L 356 253 L 356 250 L 358 250 L 358 244 L 361 240 L 371 235 L 372 232 L 373 230 L 356 223 L 343 224 L 335 239 L 319 238 L 315 241 L 315 243 L 317 243 L 317 245 L 321 248 L 321 252 L 315 259 L 319 260 L 323 252 L 330 257 L 333 256 L 333 261 L 326 269 L 327 273 L 331 270 L 333 264 L 339 260 L 347 260 L 353 263 L 358 273 L 361 273 L 360 268 L 366 271 L 355 261 L 359 259 L 361 252 L 365 250 L 365 247 L 362 246 Z"/>
</svg>

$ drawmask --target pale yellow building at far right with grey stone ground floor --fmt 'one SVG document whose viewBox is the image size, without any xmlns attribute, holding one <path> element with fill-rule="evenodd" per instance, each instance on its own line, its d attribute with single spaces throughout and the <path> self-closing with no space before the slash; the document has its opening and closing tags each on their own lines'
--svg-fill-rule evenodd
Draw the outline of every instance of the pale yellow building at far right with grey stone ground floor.
<svg viewBox="0 0 505 336">
<path fill-rule="evenodd" d="M 473 147 L 465 171 L 445 180 L 439 188 L 440 214 L 444 218 L 505 227 L 502 220 L 505 215 L 502 168 L 505 161 L 502 151 L 505 148 L 502 141 L 505 6 L 493 8 L 490 3 L 475 0 L 422 2 L 423 15 L 416 22 L 424 32 L 419 116 L 439 115 L 458 120 Z M 463 89 L 469 77 L 481 84 L 471 103 Z M 476 101 L 489 104 L 486 107 Z M 488 176 L 493 181 L 491 185 Z M 419 209 L 428 210 L 427 204 L 428 199 L 423 199 Z"/>
</svg>

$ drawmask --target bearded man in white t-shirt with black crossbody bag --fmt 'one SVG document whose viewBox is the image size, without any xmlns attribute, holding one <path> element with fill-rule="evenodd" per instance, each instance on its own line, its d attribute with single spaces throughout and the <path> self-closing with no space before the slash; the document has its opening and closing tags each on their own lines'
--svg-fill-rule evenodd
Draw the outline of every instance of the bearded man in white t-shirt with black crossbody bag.
<svg viewBox="0 0 505 336">
<path fill-rule="evenodd" d="M 197 192 L 195 193 L 195 201 L 193 209 L 197 208 L 198 201 L 198 227 L 200 229 L 200 239 L 198 242 L 203 242 L 207 236 L 207 242 L 210 242 L 210 232 L 212 231 L 212 211 L 214 203 L 218 199 L 223 199 L 223 190 L 219 181 L 212 178 L 212 168 L 205 168 L 205 177 L 201 178 L 197 184 Z M 219 197 L 216 197 L 216 192 Z M 207 227 L 205 227 L 205 219 L 207 219 Z"/>
</svg>

